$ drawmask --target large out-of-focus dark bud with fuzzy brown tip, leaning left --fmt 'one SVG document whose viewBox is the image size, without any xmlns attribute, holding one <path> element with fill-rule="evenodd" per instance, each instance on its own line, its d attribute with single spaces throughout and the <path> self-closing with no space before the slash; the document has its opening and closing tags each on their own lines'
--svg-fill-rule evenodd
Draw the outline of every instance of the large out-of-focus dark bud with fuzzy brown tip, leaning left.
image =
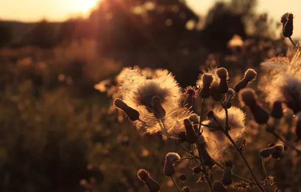
<svg viewBox="0 0 301 192">
<path fill-rule="evenodd" d="M 257 94 L 252 88 L 244 88 L 239 92 L 239 100 L 242 104 L 245 104 L 251 110 L 255 121 L 258 124 L 265 124 L 268 122 L 270 116 L 266 110 L 264 110 L 261 104 L 257 101 Z"/>
</svg>

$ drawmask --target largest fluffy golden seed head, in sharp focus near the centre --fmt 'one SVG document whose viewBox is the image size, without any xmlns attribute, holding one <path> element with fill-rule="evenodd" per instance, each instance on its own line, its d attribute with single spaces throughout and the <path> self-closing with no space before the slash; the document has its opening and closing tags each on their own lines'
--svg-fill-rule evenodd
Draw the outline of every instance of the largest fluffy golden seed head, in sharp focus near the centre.
<svg viewBox="0 0 301 192">
<path fill-rule="evenodd" d="M 138 129 L 143 129 L 150 134 L 162 131 L 157 119 L 159 116 L 161 118 L 164 116 L 169 134 L 176 135 L 185 130 L 183 119 L 188 118 L 191 112 L 188 108 L 181 107 L 181 88 L 174 76 L 164 73 L 156 75 L 153 79 L 147 79 L 139 69 L 126 68 L 117 79 L 123 101 L 140 114 L 139 120 L 141 121 L 135 121 Z M 158 107 L 162 113 L 157 117 L 150 115 L 155 112 L 154 97 L 161 100 L 161 106 L 158 105 Z"/>
</svg>

